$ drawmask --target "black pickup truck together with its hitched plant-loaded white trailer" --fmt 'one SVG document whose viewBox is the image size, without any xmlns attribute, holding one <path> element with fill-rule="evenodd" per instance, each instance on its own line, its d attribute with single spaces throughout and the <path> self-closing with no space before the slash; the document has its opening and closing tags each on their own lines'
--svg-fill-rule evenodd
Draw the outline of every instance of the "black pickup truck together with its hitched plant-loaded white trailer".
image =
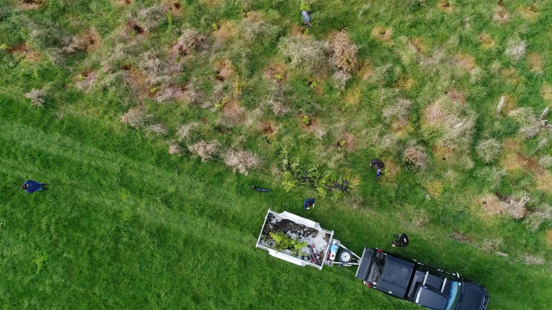
<svg viewBox="0 0 552 310">
<path fill-rule="evenodd" d="M 333 231 L 289 212 L 267 212 L 257 248 L 299 266 L 358 266 L 355 277 L 368 287 L 428 309 L 485 310 L 485 287 L 458 273 L 427 266 L 377 248 L 365 248 L 362 257 L 333 238 Z M 337 261 L 336 261 L 337 258 Z"/>
</svg>

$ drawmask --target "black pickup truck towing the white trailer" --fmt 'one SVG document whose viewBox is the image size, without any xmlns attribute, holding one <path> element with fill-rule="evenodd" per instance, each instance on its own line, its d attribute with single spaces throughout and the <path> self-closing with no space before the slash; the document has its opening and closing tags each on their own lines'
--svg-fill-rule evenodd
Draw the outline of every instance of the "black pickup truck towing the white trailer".
<svg viewBox="0 0 552 310">
<path fill-rule="evenodd" d="M 367 286 L 428 309 L 483 310 L 489 295 L 483 286 L 415 259 L 365 248 L 355 277 Z"/>
</svg>

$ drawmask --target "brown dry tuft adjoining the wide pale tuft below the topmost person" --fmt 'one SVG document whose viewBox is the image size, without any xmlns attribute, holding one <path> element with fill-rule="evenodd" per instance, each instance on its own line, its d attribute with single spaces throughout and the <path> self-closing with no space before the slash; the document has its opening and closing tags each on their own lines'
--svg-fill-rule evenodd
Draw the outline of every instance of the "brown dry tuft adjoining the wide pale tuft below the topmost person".
<svg viewBox="0 0 552 310">
<path fill-rule="evenodd" d="M 358 47 L 344 31 L 335 34 L 330 44 L 330 62 L 337 70 L 352 73 L 356 69 Z"/>
</svg>

